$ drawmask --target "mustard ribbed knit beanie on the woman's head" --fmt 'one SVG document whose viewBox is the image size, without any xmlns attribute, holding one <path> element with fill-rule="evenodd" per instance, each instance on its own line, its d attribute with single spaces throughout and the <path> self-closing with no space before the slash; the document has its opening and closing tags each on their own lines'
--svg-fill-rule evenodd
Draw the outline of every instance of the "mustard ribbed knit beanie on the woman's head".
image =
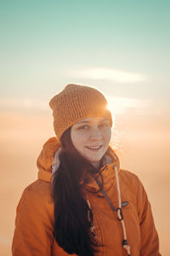
<svg viewBox="0 0 170 256">
<path fill-rule="evenodd" d="M 86 117 L 104 116 L 112 125 L 105 96 L 87 85 L 67 84 L 51 99 L 49 106 L 53 109 L 54 131 L 59 140 L 71 125 Z"/>
</svg>

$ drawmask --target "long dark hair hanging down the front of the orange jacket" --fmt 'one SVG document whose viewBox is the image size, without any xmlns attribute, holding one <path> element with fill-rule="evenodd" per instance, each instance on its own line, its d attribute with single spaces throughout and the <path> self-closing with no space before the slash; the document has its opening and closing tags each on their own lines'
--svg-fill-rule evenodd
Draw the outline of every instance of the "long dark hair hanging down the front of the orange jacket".
<svg viewBox="0 0 170 256">
<path fill-rule="evenodd" d="M 98 170 L 74 148 L 71 128 L 65 131 L 60 142 L 60 164 L 53 183 L 54 238 L 66 253 L 94 256 L 99 244 L 90 232 L 93 212 L 82 195 L 85 183 L 82 175 L 87 172 L 88 177 L 89 174 L 93 177 Z M 88 183 L 88 179 L 85 180 Z"/>
</svg>

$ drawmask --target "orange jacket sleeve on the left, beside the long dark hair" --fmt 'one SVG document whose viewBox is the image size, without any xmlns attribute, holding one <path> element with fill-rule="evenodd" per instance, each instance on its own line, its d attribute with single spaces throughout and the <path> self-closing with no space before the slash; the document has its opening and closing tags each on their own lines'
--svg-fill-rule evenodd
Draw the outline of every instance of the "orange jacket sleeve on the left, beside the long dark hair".
<svg viewBox="0 0 170 256">
<path fill-rule="evenodd" d="M 42 195 L 30 185 L 21 196 L 16 211 L 13 256 L 51 256 L 53 204 Z"/>
</svg>

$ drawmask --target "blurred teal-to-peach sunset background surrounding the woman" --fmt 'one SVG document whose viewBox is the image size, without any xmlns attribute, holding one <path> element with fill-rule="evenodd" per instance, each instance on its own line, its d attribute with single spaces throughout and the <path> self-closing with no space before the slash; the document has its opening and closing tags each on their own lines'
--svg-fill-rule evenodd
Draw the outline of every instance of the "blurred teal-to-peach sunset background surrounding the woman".
<svg viewBox="0 0 170 256">
<path fill-rule="evenodd" d="M 169 256 L 169 1 L 2 1 L 0 254 L 11 255 L 15 210 L 54 137 L 48 102 L 65 84 L 108 99 L 121 167 L 147 191 L 161 254 Z"/>
</svg>

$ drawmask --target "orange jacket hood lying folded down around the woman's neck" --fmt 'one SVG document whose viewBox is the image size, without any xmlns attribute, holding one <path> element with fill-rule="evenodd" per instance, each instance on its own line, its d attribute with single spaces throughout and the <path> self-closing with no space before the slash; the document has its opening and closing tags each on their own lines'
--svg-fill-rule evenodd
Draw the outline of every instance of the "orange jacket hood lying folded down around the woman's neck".
<svg viewBox="0 0 170 256">
<path fill-rule="evenodd" d="M 61 144 L 59 143 L 56 137 L 51 137 L 43 145 L 42 151 L 37 158 L 38 179 L 48 183 L 52 182 L 52 166 L 54 164 L 54 155 L 59 150 L 60 147 L 61 147 Z M 114 176 L 114 172 L 112 170 L 113 166 L 116 165 L 118 171 L 120 169 L 120 163 L 119 163 L 118 157 L 116 156 L 111 146 L 109 146 L 105 155 L 107 156 L 105 166 L 101 167 L 101 172 L 102 173 L 105 172 L 104 184 L 111 182 L 111 177 Z M 108 162 L 110 162 L 111 164 L 107 164 L 107 160 L 109 160 Z M 107 172 L 105 170 L 107 170 Z M 92 182 L 88 185 L 94 188 L 97 186 L 94 180 L 92 180 Z"/>
</svg>

